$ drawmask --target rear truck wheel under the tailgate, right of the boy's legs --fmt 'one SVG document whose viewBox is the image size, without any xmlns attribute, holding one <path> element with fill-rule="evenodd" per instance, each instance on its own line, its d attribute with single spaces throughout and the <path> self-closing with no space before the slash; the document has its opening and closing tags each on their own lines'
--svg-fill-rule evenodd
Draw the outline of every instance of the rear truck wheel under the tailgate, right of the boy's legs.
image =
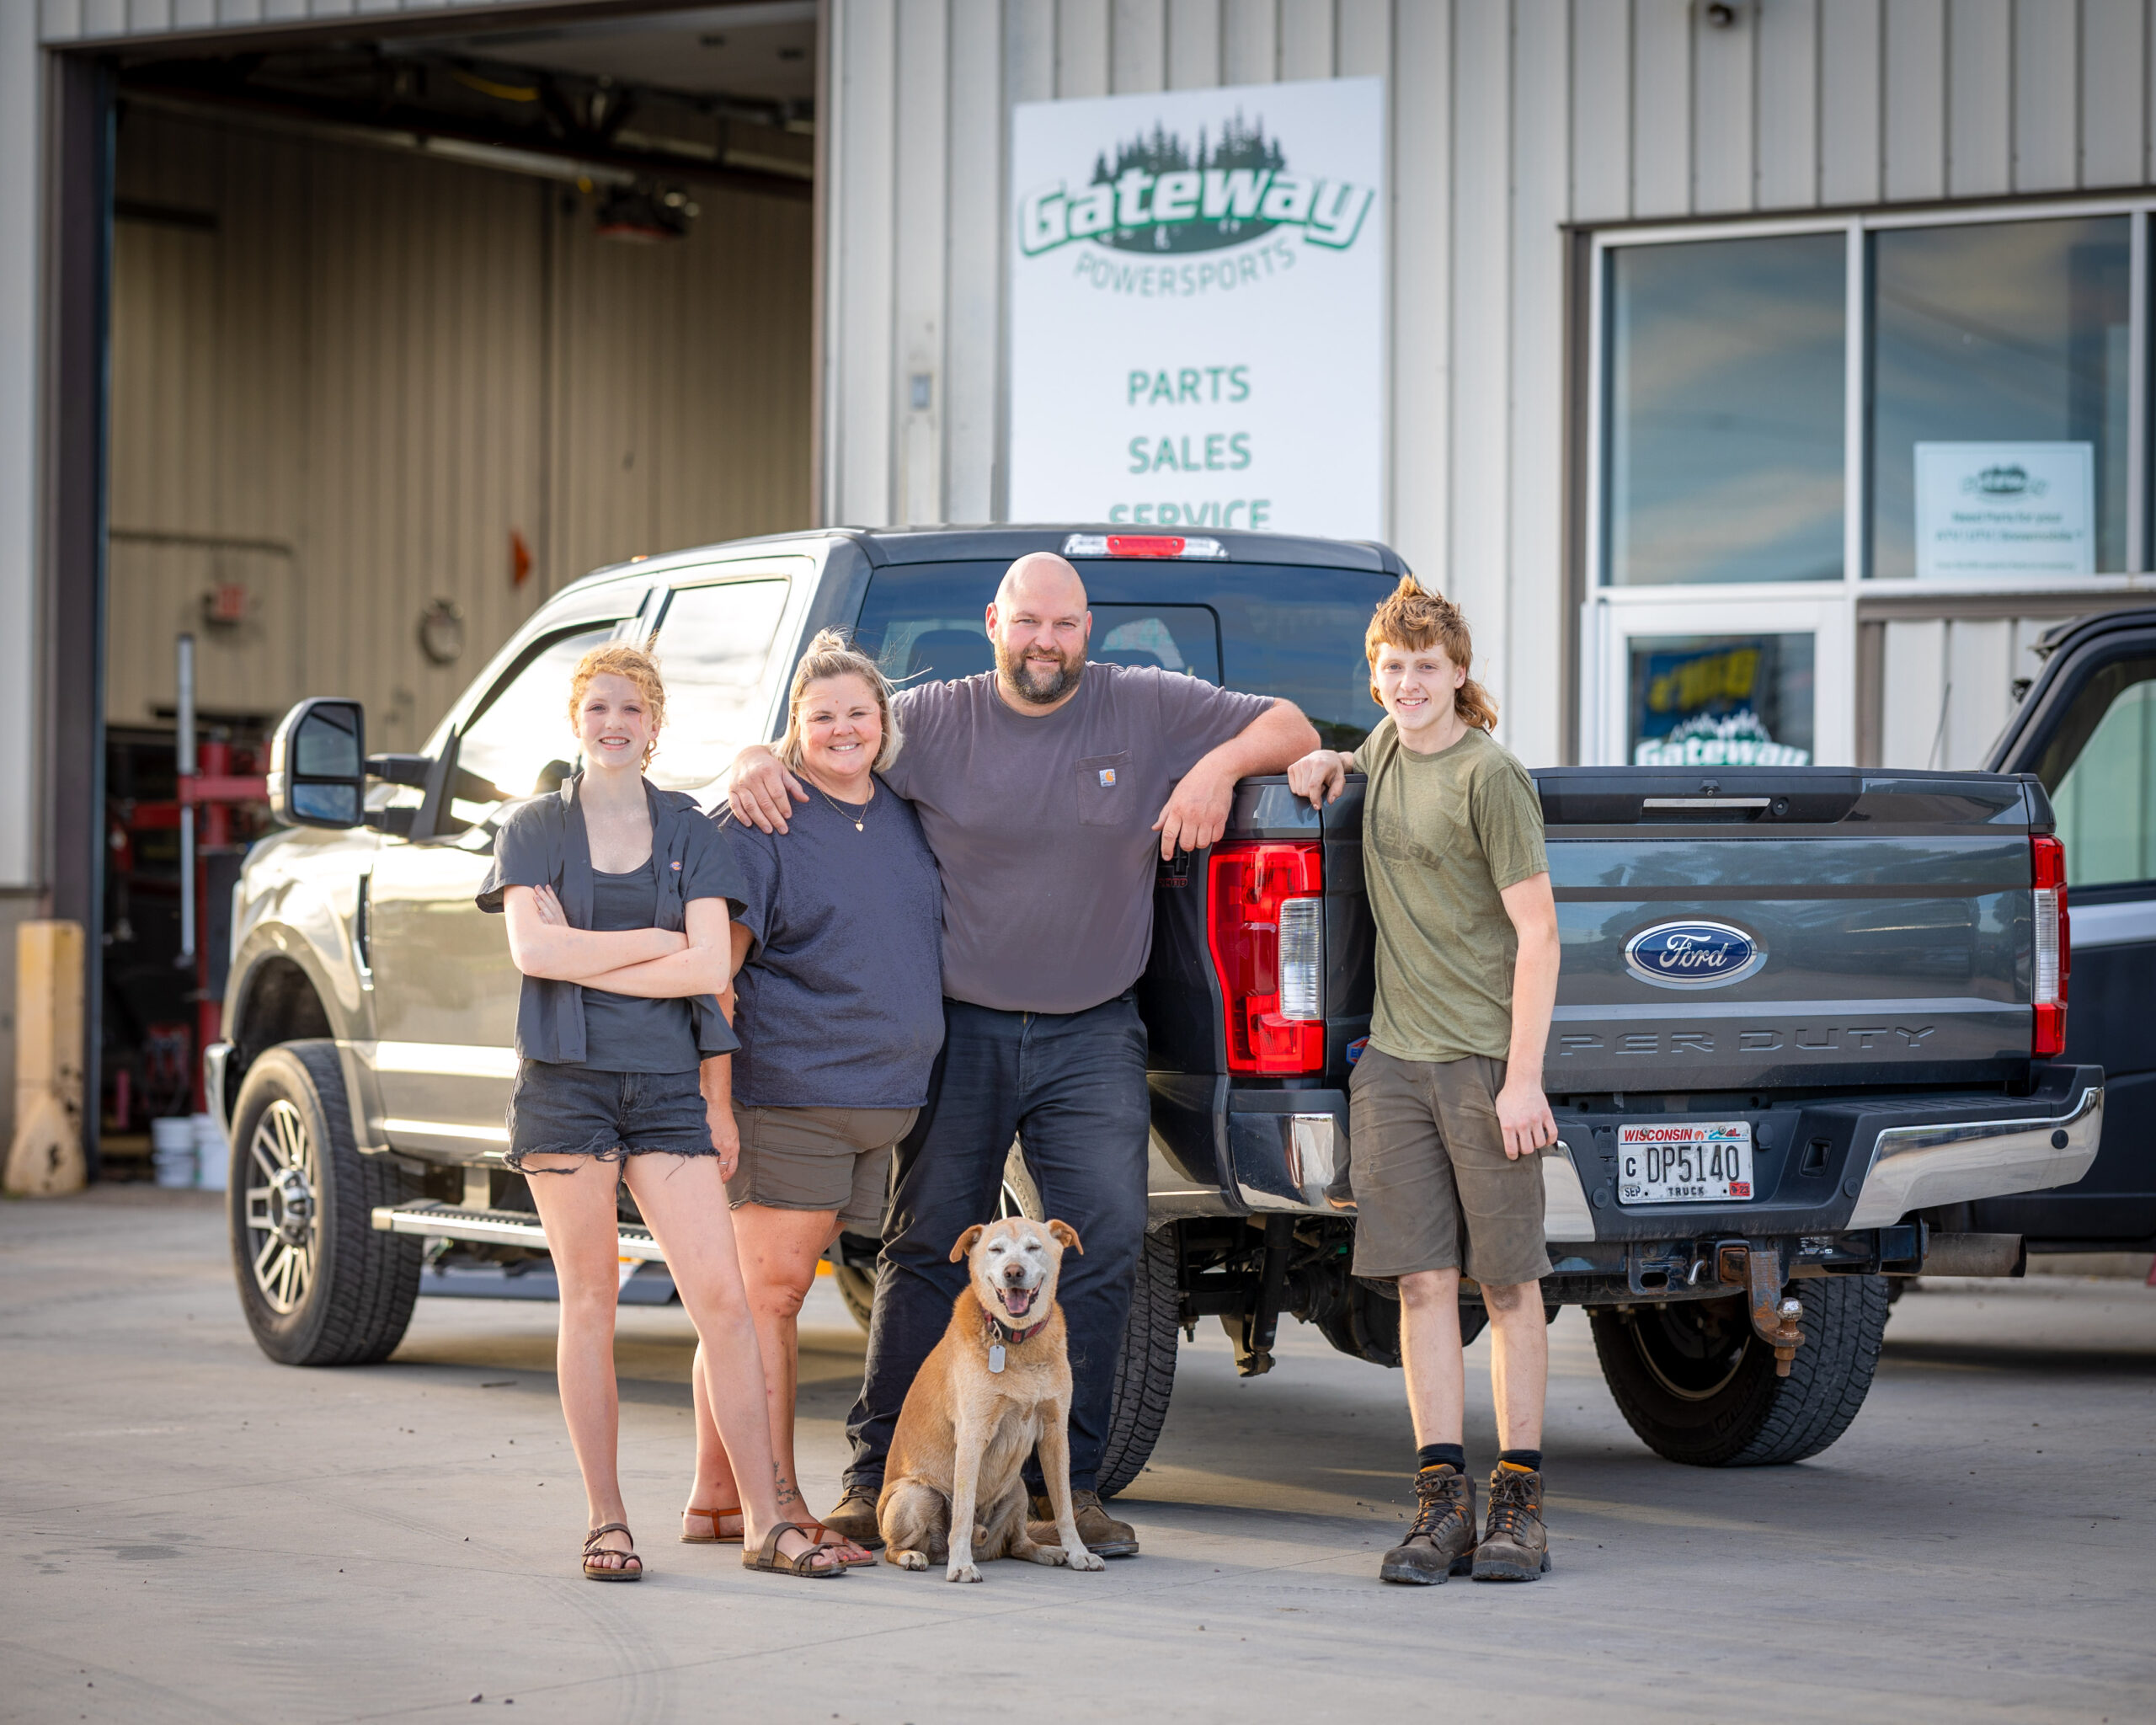
<svg viewBox="0 0 2156 1725">
<path fill-rule="evenodd" d="M 1839 1438 L 1871 1389 L 1887 1328 L 1887 1276 L 1792 1283 L 1805 1346 L 1787 1378 L 1742 1298 L 1589 1313 L 1602 1378 L 1641 1443 L 1671 1462 L 1755 1468 L 1802 1462 Z"/>
</svg>

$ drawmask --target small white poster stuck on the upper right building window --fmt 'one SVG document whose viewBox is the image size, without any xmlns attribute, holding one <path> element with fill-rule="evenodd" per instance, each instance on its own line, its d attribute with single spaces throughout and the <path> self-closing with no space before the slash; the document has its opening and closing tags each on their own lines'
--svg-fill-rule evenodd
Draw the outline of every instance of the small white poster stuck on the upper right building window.
<svg viewBox="0 0 2156 1725">
<path fill-rule="evenodd" d="M 1919 576 L 2093 576 L 2096 444 L 1917 444 Z"/>
</svg>

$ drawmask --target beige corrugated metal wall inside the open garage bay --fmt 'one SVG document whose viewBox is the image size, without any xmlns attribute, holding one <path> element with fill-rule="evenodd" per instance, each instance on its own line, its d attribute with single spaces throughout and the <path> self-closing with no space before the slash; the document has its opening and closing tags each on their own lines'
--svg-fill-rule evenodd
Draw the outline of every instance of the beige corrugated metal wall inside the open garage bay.
<svg viewBox="0 0 2156 1725">
<path fill-rule="evenodd" d="M 218 226 L 116 233 L 114 722 L 170 705 L 194 627 L 205 707 L 349 692 L 412 748 L 554 586 L 806 520 L 806 205 L 707 188 L 690 239 L 621 246 L 550 181 L 144 110 L 121 168 Z M 201 617 L 224 580 L 237 630 Z"/>
</svg>

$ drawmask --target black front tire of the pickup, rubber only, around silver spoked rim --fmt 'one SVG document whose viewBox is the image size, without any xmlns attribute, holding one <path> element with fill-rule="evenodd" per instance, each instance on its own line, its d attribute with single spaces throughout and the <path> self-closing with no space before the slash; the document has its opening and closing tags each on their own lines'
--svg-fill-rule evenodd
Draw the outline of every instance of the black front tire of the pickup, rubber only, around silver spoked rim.
<svg viewBox="0 0 2156 1725">
<path fill-rule="evenodd" d="M 250 1229 L 250 1190 L 265 1188 L 252 1154 L 257 1130 L 287 1104 L 313 1143 L 313 1270 L 304 1292 L 278 1311 L 259 1285 L 254 1257 L 265 1233 Z M 293 1115 L 278 1115 L 291 1123 Z M 418 1197 L 418 1184 L 384 1156 L 360 1156 L 334 1041 L 287 1041 L 248 1067 L 233 1108 L 233 1171 L 226 1223 L 239 1309 L 254 1341 L 278 1365 L 373 1365 L 403 1341 L 418 1298 L 420 1242 L 375 1233 L 373 1210 Z"/>
</svg>

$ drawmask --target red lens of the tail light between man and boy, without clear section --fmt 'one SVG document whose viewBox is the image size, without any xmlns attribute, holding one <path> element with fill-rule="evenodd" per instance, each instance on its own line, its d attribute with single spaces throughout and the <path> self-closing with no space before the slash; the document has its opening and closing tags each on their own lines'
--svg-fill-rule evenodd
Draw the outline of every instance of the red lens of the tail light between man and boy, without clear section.
<svg viewBox="0 0 2156 1725">
<path fill-rule="evenodd" d="M 1205 938 L 1227 1007 L 1229 1072 L 1324 1072 L 1322 1020 L 1281 1016 L 1281 901 L 1324 893 L 1315 843 L 1235 843 L 1205 865 Z"/>
</svg>

